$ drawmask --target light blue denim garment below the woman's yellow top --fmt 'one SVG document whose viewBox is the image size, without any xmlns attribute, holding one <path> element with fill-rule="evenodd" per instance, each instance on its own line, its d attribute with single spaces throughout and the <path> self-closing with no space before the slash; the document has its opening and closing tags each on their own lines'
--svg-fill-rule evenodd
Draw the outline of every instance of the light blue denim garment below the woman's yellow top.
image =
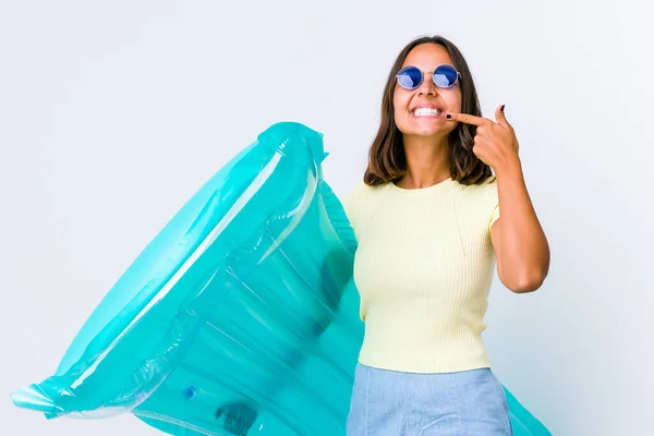
<svg viewBox="0 0 654 436">
<path fill-rule="evenodd" d="M 512 435 L 505 391 L 491 368 L 414 374 L 359 363 L 348 436 Z"/>
</svg>

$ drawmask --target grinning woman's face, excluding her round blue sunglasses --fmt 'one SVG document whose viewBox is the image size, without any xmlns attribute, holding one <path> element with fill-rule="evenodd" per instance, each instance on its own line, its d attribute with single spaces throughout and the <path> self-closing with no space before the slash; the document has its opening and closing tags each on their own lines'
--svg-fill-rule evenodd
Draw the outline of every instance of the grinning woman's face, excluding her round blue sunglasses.
<svg viewBox="0 0 654 436">
<path fill-rule="evenodd" d="M 461 111 L 460 82 L 449 88 L 441 88 L 432 81 L 436 66 L 452 59 L 445 47 L 437 44 L 422 44 L 409 52 L 402 68 L 417 66 L 424 73 L 422 84 L 413 90 L 402 88 L 397 82 L 393 93 L 395 121 L 404 135 L 446 136 L 456 129 L 456 123 L 445 119 L 447 112 Z M 461 78 L 459 77 L 459 81 Z M 431 108 L 432 110 L 417 110 Z M 437 108 L 434 114 L 433 109 Z"/>
</svg>

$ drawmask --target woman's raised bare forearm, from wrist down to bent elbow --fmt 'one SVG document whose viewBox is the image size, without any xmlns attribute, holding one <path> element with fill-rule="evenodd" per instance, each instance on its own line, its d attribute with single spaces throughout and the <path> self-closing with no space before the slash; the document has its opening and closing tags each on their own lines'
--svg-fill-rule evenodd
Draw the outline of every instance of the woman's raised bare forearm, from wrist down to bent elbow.
<svg viewBox="0 0 654 436">
<path fill-rule="evenodd" d="M 494 239 L 501 281 L 514 292 L 541 287 L 549 270 L 549 245 L 517 159 L 496 170 L 501 230 Z"/>
</svg>

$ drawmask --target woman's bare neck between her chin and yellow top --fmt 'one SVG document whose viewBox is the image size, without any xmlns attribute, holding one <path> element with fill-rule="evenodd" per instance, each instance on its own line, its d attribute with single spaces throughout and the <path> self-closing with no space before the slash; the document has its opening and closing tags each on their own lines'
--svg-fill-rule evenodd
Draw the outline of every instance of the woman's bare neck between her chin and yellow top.
<svg viewBox="0 0 654 436">
<path fill-rule="evenodd" d="M 447 137 L 404 136 L 407 173 L 397 183 L 404 189 L 421 189 L 440 183 L 450 174 Z"/>
</svg>

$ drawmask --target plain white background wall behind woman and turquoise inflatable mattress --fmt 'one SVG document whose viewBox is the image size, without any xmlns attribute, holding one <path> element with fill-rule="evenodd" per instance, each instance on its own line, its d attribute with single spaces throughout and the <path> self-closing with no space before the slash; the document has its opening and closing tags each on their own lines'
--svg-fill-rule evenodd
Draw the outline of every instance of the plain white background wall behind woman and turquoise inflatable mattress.
<svg viewBox="0 0 654 436">
<path fill-rule="evenodd" d="M 484 3 L 484 4 L 482 4 Z M 484 114 L 506 104 L 552 244 L 536 293 L 496 282 L 501 382 L 555 435 L 654 432 L 652 7 L 646 2 L 0 2 L 0 433 L 154 435 L 133 416 L 47 422 L 10 392 L 179 207 L 258 132 L 325 133 L 361 179 L 392 60 L 443 34 Z"/>
</svg>

